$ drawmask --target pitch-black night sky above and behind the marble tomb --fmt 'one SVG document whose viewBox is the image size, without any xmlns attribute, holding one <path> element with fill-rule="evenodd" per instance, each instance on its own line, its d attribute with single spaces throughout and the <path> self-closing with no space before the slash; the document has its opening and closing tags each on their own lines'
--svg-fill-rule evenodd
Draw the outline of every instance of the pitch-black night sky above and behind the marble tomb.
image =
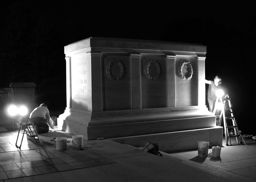
<svg viewBox="0 0 256 182">
<path fill-rule="evenodd" d="M 2 30 L 8 25 L 7 17 L 16 11 L 12 7 L 15 2 L 5 2 L 1 5 Z M 255 109 L 253 105 L 255 94 L 252 89 L 256 66 L 254 4 L 234 2 L 187 4 L 161 1 L 146 4 L 138 1 L 73 3 L 66 0 L 21 2 L 17 5 L 21 7 L 20 11 L 16 13 L 29 15 L 27 27 L 38 21 L 33 17 L 39 14 L 45 14 L 47 20 L 54 25 L 49 34 L 54 35 L 55 38 L 51 39 L 50 44 L 54 44 L 58 55 L 56 57 L 59 63 L 63 64 L 59 72 L 63 75 L 65 75 L 63 47 L 88 37 L 161 40 L 206 45 L 206 79 L 213 79 L 216 74 L 222 77 L 222 86 L 232 98 L 234 115 L 238 124 L 242 125 L 240 129 L 247 130 L 250 126 L 251 129 L 247 131 L 254 132 L 256 124 L 251 117 L 251 112 Z M 5 46 L 3 41 L 1 44 Z M 52 66 L 52 69 L 56 67 Z M 65 84 L 65 80 L 62 84 Z"/>
</svg>

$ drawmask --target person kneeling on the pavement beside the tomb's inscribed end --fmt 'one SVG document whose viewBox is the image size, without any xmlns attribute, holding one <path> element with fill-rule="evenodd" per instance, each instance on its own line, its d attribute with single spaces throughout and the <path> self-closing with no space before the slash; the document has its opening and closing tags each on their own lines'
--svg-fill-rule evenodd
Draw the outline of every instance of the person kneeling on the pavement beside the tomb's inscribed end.
<svg viewBox="0 0 256 182">
<path fill-rule="evenodd" d="M 47 105 L 42 103 L 39 107 L 35 108 L 30 114 L 30 120 L 35 126 L 37 134 L 47 133 L 49 131 L 49 126 L 51 129 L 54 129 L 52 126 L 52 120 L 50 118 L 50 113 L 47 108 Z"/>
</svg>

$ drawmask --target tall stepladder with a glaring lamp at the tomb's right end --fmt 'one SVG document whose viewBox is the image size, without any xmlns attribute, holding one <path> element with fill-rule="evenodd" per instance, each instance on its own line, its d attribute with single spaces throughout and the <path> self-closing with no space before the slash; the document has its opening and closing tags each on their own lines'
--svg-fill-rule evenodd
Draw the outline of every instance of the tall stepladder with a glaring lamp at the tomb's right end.
<svg viewBox="0 0 256 182">
<path fill-rule="evenodd" d="M 219 102 L 220 101 L 220 102 Z M 225 132 L 225 138 L 226 138 L 226 146 L 228 146 L 228 142 L 231 144 L 231 139 L 232 137 L 236 138 L 237 144 L 240 143 L 242 144 L 242 136 L 239 132 L 238 126 L 237 126 L 237 121 L 236 118 L 233 115 L 232 112 L 232 104 L 231 104 L 231 99 L 228 96 L 228 94 L 225 95 L 225 98 L 217 97 L 214 111 L 213 113 L 216 114 L 217 110 L 217 104 L 222 104 L 221 107 L 221 112 L 220 115 L 216 116 L 216 125 L 221 126 L 222 120 L 223 120 L 223 125 L 224 125 L 224 132 Z M 233 135 L 230 134 L 231 130 L 233 130 Z"/>
</svg>

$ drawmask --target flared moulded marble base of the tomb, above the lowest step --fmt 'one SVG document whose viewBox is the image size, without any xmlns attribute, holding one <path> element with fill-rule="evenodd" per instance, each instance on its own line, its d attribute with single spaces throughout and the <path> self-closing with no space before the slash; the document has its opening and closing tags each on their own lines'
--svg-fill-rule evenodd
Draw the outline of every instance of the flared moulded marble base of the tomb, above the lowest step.
<svg viewBox="0 0 256 182">
<path fill-rule="evenodd" d="M 86 140 L 161 134 L 215 126 L 216 116 L 209 115 L 205 108 L 103 112 L 95 115 L 70 109 L 58 118 L 58 129 L 83 135 Z"/>
</svg>

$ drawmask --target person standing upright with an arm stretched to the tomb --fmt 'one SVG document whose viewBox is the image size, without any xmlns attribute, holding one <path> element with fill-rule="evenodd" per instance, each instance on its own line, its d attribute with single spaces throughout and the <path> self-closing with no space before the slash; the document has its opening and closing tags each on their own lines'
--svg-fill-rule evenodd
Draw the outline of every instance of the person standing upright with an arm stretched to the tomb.
<svg viewBox="0 0 256 182">
<path fill-rule="evenodd" d="M 217 99 L 216 90 L 220 89 L 221 78 L 218 75 L 215 76 L 214 81 L 205 80 L 205 83 L 209 84 L 208 92 L 207 92 L 207 100 L 209 104 L 209 111 L 213 112 L 215 101 Z"/>
</svg>

